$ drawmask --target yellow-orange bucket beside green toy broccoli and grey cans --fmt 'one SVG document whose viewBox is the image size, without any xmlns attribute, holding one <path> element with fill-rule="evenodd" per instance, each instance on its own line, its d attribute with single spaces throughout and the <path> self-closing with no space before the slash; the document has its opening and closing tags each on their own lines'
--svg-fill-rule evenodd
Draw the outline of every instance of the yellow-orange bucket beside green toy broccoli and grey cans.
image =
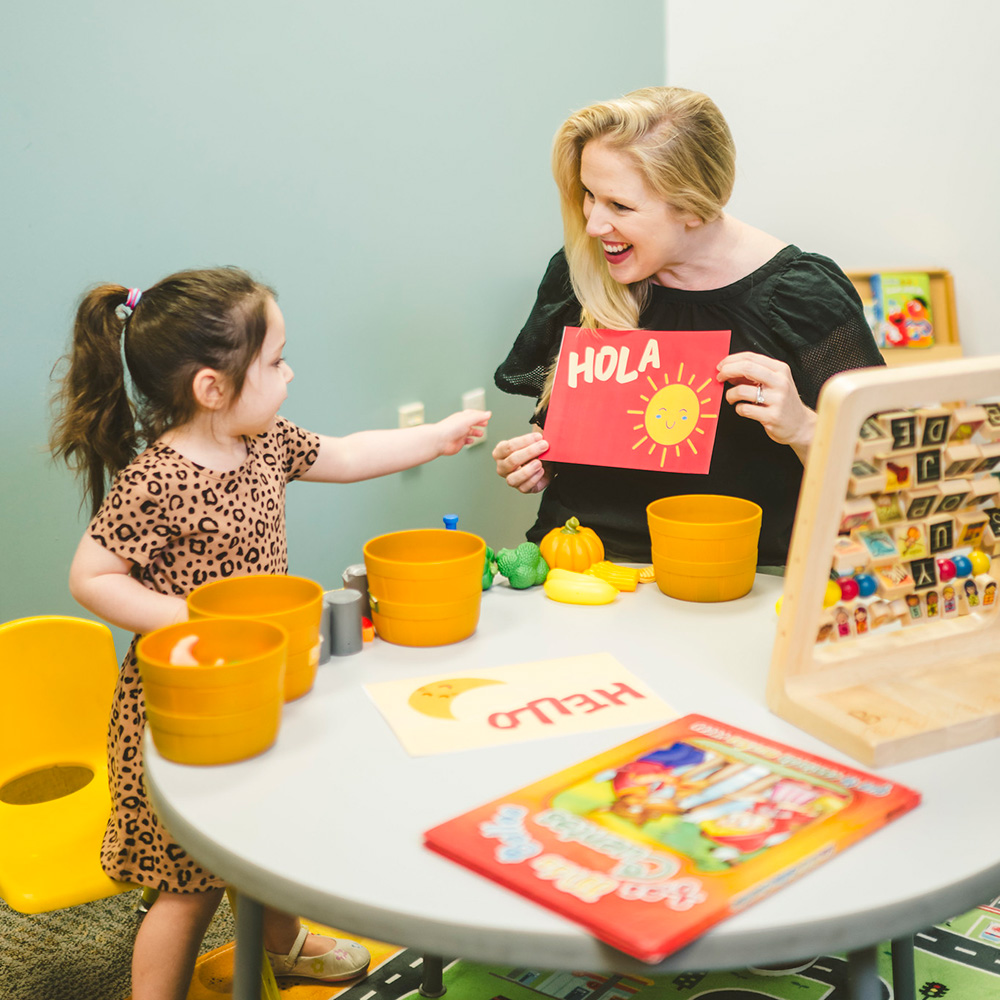
<svg viewBox="0 0 1000 1000">
<path fill-rule="evenodd" d="M 364 547 L 375 631 L 400 646 L 444 646 L 479 624 L 486 542 L 443 528 L 395 531 Z"/>
</svg>

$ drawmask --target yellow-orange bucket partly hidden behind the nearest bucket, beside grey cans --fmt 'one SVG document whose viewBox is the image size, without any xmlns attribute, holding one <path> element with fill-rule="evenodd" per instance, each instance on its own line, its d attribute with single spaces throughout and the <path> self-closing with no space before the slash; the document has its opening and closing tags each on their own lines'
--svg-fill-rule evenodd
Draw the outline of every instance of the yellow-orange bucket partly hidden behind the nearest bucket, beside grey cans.
<svg viewBox="0 0 1000 1000">
<path fill-rule="evenodd" d="M 192 590 L 192 618 L 252 618 L 280 625 L 288 633 L 285 701 L 313 686 L 319 664 L 323 588 L 301 576 L 234 576 Z"/>
</svg>

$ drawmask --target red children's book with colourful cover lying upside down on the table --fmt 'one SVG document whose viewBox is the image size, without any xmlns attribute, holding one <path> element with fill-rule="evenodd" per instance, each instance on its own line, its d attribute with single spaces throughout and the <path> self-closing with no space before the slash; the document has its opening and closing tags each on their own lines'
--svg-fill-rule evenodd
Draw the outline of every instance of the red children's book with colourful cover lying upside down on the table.
<svg viewBox="0 0 1000 1000">
<path fill-rule="evenodd" d="M 657 963 L 919 801 L 874 774 L 687 715 L 424 840 Z"/>
</svg>

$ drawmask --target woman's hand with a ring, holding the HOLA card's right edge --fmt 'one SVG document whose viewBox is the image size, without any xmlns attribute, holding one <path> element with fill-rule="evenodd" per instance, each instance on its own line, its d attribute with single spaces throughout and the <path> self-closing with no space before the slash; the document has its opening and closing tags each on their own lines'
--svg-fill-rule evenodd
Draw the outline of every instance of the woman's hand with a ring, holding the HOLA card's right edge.
<svg viewBox="0 0 1000 1000">
<path fill-rule="evenodd" d="M 732 403 L 741 417 L 756 420 L 772 441 L 787 444 L 805 462 L 816 414 L 799 398 L 784 361 L 742 351 L 719 362 L 716 378 L 732 384 L 726 390 L 726 402 Z"/>
</svg>

